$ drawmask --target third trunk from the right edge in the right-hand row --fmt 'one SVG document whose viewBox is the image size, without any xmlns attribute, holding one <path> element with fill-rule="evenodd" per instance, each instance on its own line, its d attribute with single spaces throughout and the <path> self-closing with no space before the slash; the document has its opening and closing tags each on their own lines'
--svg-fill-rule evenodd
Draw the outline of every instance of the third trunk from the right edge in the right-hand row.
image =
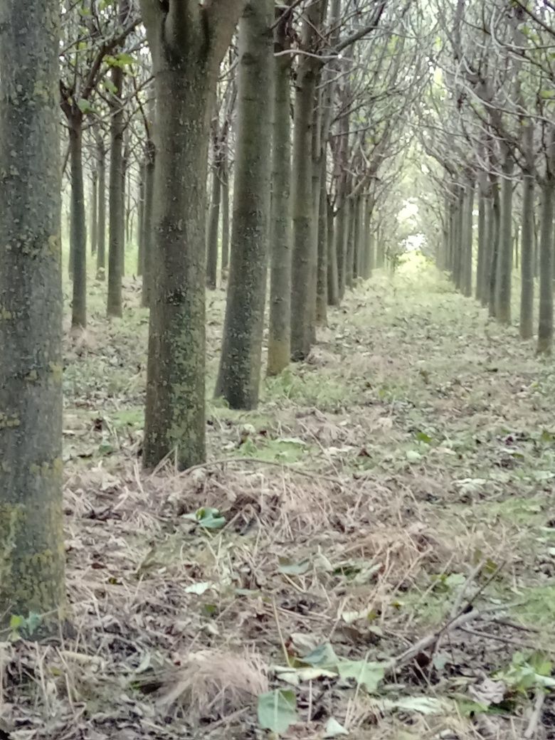
<svg viewBox="0 0 555 740">
<path fill-rule="evenodd" d="M 496 316 L 501 323 L 511 323 L 511 282 L 513 275 L 513 175 L 514 161 L 506 155 L 501 182 L 501 224 L 497 260 Z"/>
</svg>

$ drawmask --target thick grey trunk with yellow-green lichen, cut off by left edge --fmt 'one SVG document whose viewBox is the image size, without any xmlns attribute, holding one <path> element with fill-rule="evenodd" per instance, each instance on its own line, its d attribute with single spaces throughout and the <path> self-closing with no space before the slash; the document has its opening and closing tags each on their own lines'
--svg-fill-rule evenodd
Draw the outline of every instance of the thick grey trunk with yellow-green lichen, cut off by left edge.
<svg viewBox="0 0 555 740">
<path fill-rule="evenodd" d="M 44 631 L 65 591 L 58 17 L 0 4 L 0 623 Z"/>
</svg>

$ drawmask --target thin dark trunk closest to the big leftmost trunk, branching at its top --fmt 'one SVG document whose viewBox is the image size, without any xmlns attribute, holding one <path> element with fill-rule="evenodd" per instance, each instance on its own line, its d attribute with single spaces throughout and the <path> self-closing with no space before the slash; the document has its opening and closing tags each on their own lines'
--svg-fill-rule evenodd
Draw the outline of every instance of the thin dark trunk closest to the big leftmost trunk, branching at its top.
<svg viewBox="0 0 555 740">
<path fill-rule="evenodd" d="M 83 129 L 81 115 L 70 121 L 71 253 L 73 303 L 71 325 L 87 326 L 87 226 L 83 182 Z"/>
</svg>

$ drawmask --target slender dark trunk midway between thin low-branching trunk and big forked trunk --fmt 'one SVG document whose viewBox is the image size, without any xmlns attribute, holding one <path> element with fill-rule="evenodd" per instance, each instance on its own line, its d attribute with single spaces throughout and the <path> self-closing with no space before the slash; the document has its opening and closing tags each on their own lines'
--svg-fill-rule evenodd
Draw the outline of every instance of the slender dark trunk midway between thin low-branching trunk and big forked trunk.
<svg viewBox="0 0 555 740">
<path fill-rule="evenodd" d="M 110 124 L 110 239 L 108 247 L 108 316 L 122 315 L 121 277 L 125 249 L 125 195 L 124 195 L 124 110 L 121 94 L 124 70 L 112 68 L 115 92 Z"/>
</svg>

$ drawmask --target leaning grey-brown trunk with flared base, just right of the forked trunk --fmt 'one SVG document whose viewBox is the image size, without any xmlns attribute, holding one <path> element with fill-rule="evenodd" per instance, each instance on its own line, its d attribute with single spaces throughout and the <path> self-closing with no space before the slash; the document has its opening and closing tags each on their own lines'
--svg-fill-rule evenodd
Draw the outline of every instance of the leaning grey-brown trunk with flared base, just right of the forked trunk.
<svg viewBox="0 0 555 740">
<path fill-rule="evenodd" d="M 274 0 L 249 0 L 239 24 L 238 142 L 226 319 L 216 395 L 255 408 L 269 252 Z"/>
</svg>

